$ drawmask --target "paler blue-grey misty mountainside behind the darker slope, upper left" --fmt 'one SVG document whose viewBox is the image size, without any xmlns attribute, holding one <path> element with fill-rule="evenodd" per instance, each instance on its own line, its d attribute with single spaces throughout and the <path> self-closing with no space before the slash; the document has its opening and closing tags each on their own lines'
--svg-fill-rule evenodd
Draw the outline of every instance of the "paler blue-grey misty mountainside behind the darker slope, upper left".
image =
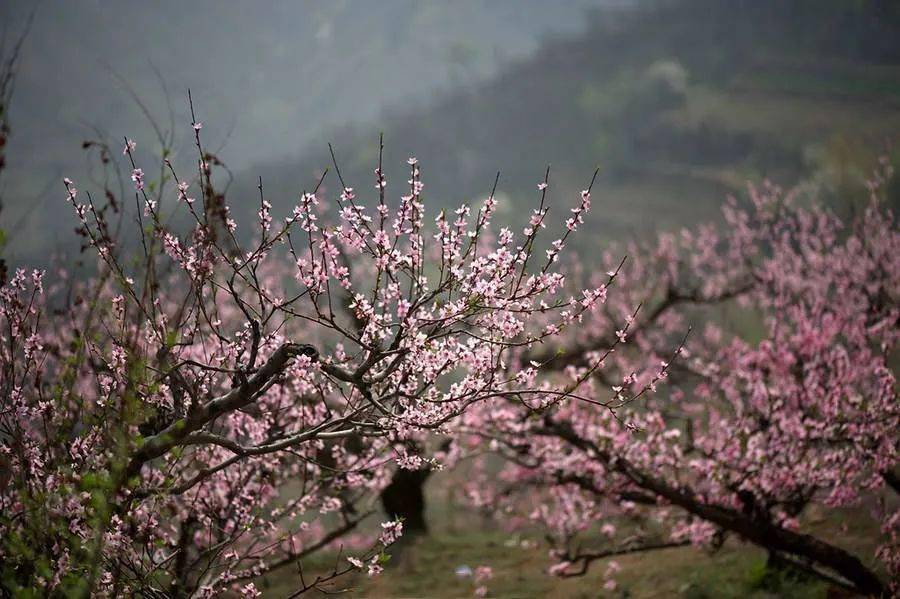
<svg viewBox="0 0 900 599">
<path fill-rule="evenodd" d="M 39 231 L 72 236 L 61 179 L 85 181 L 85 139 L 138 141 L 159 160 L 152 117 L 176 156 L 191 156 L 187 90 L 204 138 L 235 169 L 296 156 L 324 133 L 373 122 L 389 106 L 421 106 L 467 89 L 547 36 L 583 29 L 585 9 L 622 0 L 467 0 L 190 4 L 0 3 L 7 46 L 25 30 L 10 108 L 0 226 L 19 231 L 7 252 L 32 261 L 47 251 Z M 145 114 L 146 110 L 146 114 Z M 118 153 L 117 153 L 118 154 Z M 189 160 L 193 160 L 192 157 Z M 72 240 L 74 243 L 74 240 Z"/>
</svg>

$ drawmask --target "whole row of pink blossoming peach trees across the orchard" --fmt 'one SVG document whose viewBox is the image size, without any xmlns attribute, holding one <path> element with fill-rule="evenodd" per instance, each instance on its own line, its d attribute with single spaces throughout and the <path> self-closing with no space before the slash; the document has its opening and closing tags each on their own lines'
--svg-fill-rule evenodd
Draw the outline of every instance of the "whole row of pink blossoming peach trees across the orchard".
<svg viewBox="0 0 900 599">
<path fill-rule="evenodd" d="M 891 592 L 900 233 L 879 202 L 886 164 L 852 222 L 764 186 L 726 206 L 724 227 L 598 266 L 565 252 L 590 184 L 551 211 L 548 171 L 512 230 L 494 191 L 429 214 L 415 158 L 397 201 L 380 158 L 360 192 L 335 160 L 338 193 L 326 171 L 287 215 L 260 181 L 241 234 L 192 126 L 194 164 L 164 158 L 152 182 L 125 139 L 130 211 L 65 181 L 94 276 L 20 269 L 0 291 L 7 594 L 255 596 L 290 565 L 299 595 L 375 575 L 404 527 L 359 532 L 379 496 L 463 461 L 474 504 L 546 527 L 553 575 L 736 537 Z M 101 148 L 105 164 L 117 153 Z M 718 318 L 726 305 L 756 338 Z M 805 531 L 813 506 L 878 519 L 875 562 Z M 320 551 L 337 551 L 333 568 L 305 571 Z"/>
</svg>

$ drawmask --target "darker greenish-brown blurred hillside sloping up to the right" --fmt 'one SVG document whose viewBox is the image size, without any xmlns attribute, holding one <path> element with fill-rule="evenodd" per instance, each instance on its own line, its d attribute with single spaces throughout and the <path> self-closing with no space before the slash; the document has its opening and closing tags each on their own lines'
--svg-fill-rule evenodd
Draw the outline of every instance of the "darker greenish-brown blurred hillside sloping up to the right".
<svg viewBox="0 0 900 599">
<path fill-rule="evenodd" d="M 590 218 L 604 238 L 709 218 L 748 180 L 803 180 L 844 203 L 862 193 L 900 133 L 898 5 L 654 5 L 596 11 L 583 35 L 553 40 L 489 81 L 388 112 L 375 126 L 335 130 L 328 140 L 345 179 L 371 189 L 379 130 L 389 191 L 394 182 L 402 192 L 405 158 L 415 154 L 439 205 L 483 197 L 500 170 L 522 214 L 546 164 L 559 202 L 599 165 Z M 325 142 L 239 175 L 234 193 L 255 191 L 261 175 L 286 209 L 330 165 Z"/>
</svg>

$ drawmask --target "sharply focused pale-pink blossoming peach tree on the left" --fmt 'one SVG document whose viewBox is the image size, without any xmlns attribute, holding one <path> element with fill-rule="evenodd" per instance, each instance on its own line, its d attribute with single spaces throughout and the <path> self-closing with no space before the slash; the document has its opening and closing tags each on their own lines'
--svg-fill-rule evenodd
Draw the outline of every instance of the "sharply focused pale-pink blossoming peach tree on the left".
<svg viewBox="0 0 900 599">
<path fill-rule="evenodd" d="M 125 140 L 129 234 L 110 222 L 121 202 L 65 181 L 95 276 L 19 270 L 0 290 L 10 592 L 255 596 L 254 580 L 291 564 L 299 594 L 377 574 L 402 522 L 348 534 L 394 470 L 429 459 L 423 440 L 491 398 L 549 405 L 574 391 L 506 362 L 605 296 L 564 295 L 564 239 L 538 255 L 546 180 L 521 234 L 494 229 L 493 192 L 426 220 L 414 158 L 396 204 L 380 158 L 366 202 L 343 181 L 329 200 L 320 179 L 277 217 L 260 181 L 248 246 L 200 123 L 192 133 L 192 174 L 165 159 L 153 182 Z M 338 551 L 333 569 L 305 572 L 323 548 Z"/>
</svg>

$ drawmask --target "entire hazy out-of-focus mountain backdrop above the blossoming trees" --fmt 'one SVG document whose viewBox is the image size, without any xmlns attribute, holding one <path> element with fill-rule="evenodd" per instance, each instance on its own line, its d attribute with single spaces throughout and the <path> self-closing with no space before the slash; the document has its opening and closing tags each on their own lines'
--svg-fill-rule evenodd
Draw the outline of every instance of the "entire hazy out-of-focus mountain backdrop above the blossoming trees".
<svg viewBox="0 0 900 599">
<path fill-rule="evenodd" d="M 29 18 L 0 180 L 12 263 L 77 248 L 59 181 L 96 174 L 83 141 L 189 156 L 189 88 L 248 215 L 257 176 L 288 210 L 328 142 L 368 189 L 384 132 L 389 182 L 415 154 L 432 205 L 499 170 L 515 215 L 547 164 L 559 201 L 600 166 L 599 242 L 715 218 L 748 180 L 851 202 L 900 131 L 890 0 L 7 1 L 7 47 Z"/>
</svg>

